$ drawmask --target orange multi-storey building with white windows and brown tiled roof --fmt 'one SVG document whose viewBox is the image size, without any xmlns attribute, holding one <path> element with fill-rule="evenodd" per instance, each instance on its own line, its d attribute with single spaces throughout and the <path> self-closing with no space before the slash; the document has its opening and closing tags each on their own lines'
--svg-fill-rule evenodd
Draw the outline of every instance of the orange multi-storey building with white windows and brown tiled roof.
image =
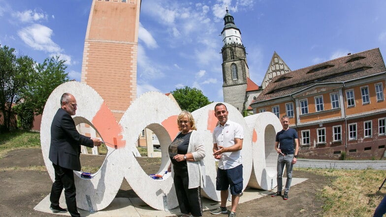
<svg viewBox="0 0 386 217">
<path fill-rule="evenodd" d="M 300 157 L 379 159 L 386 145 L 385 82 L 377 48 L 277 76 L 251 107 L 290 117 Z"/>
</svg>

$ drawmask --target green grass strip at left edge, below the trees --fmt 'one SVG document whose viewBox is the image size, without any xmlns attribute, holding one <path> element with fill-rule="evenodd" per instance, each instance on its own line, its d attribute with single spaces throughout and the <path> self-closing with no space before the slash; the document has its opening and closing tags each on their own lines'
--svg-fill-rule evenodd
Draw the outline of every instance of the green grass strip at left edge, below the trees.
<svg viewBox="0 0 386 217">
<path fill-rule="evenodd" d="M 0 135 L 0 159 L 16 149 L 40 148 L 40 134 L 15 130 Z"/>
</svg>

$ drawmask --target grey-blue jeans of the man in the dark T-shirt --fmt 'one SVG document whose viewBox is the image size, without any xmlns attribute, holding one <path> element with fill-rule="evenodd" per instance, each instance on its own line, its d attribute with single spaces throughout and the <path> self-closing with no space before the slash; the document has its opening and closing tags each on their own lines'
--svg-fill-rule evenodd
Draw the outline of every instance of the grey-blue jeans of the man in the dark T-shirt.
<svg viewBox="0 0 386 217">
<path fill-rule="evenodd" d="M 284 166 L 286 166 L 286 172 L 287 172 L 287 182 L 286 187 L 284 188 L 284 193 L 288 193 L 290 191 L 291 181 L 292 181 L 292 160 L 293 160 L 293 154 L 292 155 L 279 155 L 278 156 L 278 164 L 277 164 L 277 184 L 278 184 L 278 191 L 282 192 L 283 187 L 283 170 Z"/>
</svg>

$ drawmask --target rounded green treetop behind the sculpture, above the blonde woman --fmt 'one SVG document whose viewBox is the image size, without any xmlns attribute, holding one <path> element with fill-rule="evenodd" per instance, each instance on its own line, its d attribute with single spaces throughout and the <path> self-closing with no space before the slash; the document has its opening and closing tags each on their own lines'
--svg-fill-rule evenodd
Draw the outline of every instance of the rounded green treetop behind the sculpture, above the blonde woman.
<svg viewBox="0 0 386 217">
<path fill-rule="evenodd" d="M 205 105 L 212 103 L 201 90 L 185 86 L 171 92 L 181 109 L 193 112 Z"/>
</svg>

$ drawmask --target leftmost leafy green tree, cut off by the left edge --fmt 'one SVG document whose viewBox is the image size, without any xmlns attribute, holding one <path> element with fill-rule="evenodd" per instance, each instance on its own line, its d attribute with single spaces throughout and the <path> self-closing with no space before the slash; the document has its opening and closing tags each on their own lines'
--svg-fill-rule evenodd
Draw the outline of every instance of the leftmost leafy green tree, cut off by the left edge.
<svg viewBox="0 0 386 217">
<path fill-rule="evenodd" d="M 33 60 L 28 56 L 16 57 L 15 49 L 0 46 L 0 112 L 2 129 L 9 131 L 15 114 L 12 105 L 22 99 L 23 90 L 33 80 Z"/>
</svg>

